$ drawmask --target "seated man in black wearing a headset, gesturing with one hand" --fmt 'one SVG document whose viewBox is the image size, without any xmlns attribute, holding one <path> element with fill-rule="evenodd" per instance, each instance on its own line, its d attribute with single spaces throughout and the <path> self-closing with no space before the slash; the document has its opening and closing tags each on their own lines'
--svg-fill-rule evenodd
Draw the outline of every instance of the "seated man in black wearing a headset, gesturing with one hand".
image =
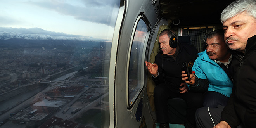
<svg viewBox="0 0 256 128">
<path fill-rule="evenodd" d="M 154 64 L 145 62 L 156 83 L 154 102 L 157 122 L 160 123 L 160 128 L 169 128 L 167 100 L 181 97 L 187 103 L 184 126 L 194 128 L 195 111 L 202 107 L 202 93 L 190 92 L 182 81 L 181 72 L 184 62 L 187 62 L 191 71 L 198 52 L 194 46 L 178 42 L 176 34 L 168 29 L 159 34 L 159 48 L 160 52 L 156 55 Z"/>
</svg>

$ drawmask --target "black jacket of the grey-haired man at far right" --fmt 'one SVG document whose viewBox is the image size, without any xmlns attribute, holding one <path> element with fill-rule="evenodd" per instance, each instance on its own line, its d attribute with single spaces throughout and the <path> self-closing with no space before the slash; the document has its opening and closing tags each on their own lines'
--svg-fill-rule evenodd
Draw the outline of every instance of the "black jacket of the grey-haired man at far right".
<svg viewBox="0 0 256 128">
<path fill-rule="evenodd" d="M 231 128 L 240 123 L 245 128 L 256 128 L 256 35 L 248 38 L 244 54 L 235 50 L 230 52 L 233 55 L 230 72 L 234 86 L 221 120 Z"/>
</svg>

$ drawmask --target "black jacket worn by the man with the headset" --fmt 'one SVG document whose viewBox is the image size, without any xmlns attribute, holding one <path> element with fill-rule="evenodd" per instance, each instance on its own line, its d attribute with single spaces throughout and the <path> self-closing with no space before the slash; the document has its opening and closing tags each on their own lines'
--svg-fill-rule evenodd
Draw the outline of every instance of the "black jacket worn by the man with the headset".
<svg viewBox="0 0 256 128">
<path fill-rule="evenodd" d="M 159 52 L 155 57 L 155 63 L 158 65 L 159 75 L 154 78 L 156 86 L 166 83 L 171 91 L 180 92 L 180 84 L 184 83 L 181 77 L 182 62 L 187 62 L 190 72 L 195 59 L 197 59 L 197 49 L 189 44 L 178 43 L 178 47 L 173 56 L 163 55 Z"/>
</svg>

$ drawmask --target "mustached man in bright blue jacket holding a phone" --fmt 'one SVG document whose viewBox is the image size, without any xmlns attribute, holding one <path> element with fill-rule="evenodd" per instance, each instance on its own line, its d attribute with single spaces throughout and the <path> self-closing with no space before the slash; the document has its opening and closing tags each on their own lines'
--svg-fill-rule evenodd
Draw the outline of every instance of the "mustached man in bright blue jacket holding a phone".
<svg viewBox="0 0 256 128">
<path fill-rule="evenodd" d="M 213 123 L 210 112 L 221 114 L 224 106 L 227 105 L 232 93 L 232 78 L 228 73 L 228 64 L 232 60 L 232 55 L 228 52 L 228 45 L 225 44 L 224 31 L 218 29 L 206 36 L 206 50 L 200 52 L 199 57 L 190 74 L 191 80 L 187 81 L 187 74 L 182 72 L 184 80 L 189 89 L 194 92 L 204 92 L 203 108 L 197 109 L 197 128 L 212 128 Z M 208 110 L 211 110 L 208 112 Z"/>
</svg>

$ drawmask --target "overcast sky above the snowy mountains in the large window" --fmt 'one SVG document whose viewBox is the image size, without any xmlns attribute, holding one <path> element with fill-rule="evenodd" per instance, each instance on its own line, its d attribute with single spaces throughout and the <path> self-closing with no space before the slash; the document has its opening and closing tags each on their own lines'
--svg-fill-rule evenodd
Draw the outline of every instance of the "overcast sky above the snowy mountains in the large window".
<svg viewBox="0 0 256 128">
<path fill-rule="evenodd" d="M 119 0 L 5 0 L 0 27 L 112 40 L 118 9 Z"/>
</svg>

